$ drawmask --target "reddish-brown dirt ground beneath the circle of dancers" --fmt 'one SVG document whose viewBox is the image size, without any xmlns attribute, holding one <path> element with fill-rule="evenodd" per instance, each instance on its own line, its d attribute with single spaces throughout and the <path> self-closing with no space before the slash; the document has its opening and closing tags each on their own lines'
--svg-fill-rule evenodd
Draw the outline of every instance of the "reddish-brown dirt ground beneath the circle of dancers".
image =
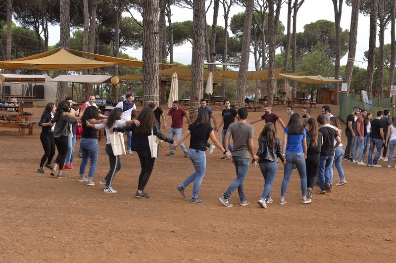
<svg viewBox="0 0 396 263">
<path fill-rule="evenodd" d="M 165 113 L 168 111 L 163 105 Z M 222 106 L 213 106 L 218 120 Z M 139 107 L 138 107 L 139 109 Z M 336 106 L 333 114 L 338 115 Z M 27 108 L 40 119 L 43 108 Z M 262 110 L 262 109 L 261 109 Z M 320 114 L 321 105 L 311 116 Z M 302 108 L 296 107 L 300 113 Z M 273 112 L 287 124 L 286 106 Z M 263 112 L 249 112 L 248 121 Z M 255 146 L 264 122 L 253 125 Z M 278 136 L 281 137 L 278 124 Z M 343 125 L 343 129 L 345 125 Z M 184 127 L 184 131 L 187 125 Z M 164 131 L 168 134 L 168 131 Z M 121 157 L 122 169 L 113 181 L 117 194 L 103 193 L 99 180 L 109 165 L 105 139 L 99 142 L 95 186 L 77 181 L 81 159 L 68 179 L 36 172 L 43 149 L 40 128 L 20 137 L 0 128 L 0 262 L 394 262 L 396 260 L 396 169 L 361 167 L 343 160 L 347 184 L 334 186 L 325 196 L 314 193 L 312 203 L 301 204 L 299 176 L 293 172 L 286 205 L 278 205 L 283 165 L 272 187 L 274 203 L 262 209 L 256 203 L 263 191 L 259 168 L 250 167 L 245 181 L 249 206 L 234 207 L 218 198 L 235 179 L 231 161 L 220 160 L 215 149 L 206 155 L 206 174 L 200 188 L 203 205 L 191 204 L 192 185 L 183 198 L 175 186 L 194 168 L 179 149 L 155 161 L 145 191 L 137 199 L 140 164 L 137 154 Z M 216 133 L 221 140 L 221 132 Z M 346 137 L 342 137 L 346 143 Z M 187 146 L 189 141 L 186 141 Z M 79 148 L 76 144 L 75 153 Z M 56 157 L 56 155 L 55 155 Z M 367 160 L 365 160 L 366 162 Z M 394 162 L 394 161 L 393 161 Z M 87 169 L 88 173 L 88 169 Z M 335 170 L 334 180 L 339 176 Z M 316 189 L 314 189 L 316 190 Z"/>
</svg>

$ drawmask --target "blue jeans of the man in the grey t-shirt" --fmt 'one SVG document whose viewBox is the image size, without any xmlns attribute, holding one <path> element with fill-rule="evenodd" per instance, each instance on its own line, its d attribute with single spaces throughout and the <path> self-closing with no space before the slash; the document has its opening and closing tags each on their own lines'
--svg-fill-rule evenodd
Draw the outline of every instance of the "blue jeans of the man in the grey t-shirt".
<svg viewBox="0 0 396 263">
<path fill-rule="evenodd" d="M 249 158 L 232 157 L 232 162 L 235 165 L 237 178 L 228 186 L 227 191 L 223 194 L 225 199 L 230 198 L 232 192 L 238 188 L 239 199 L 245 201 L 244 181 L 246 178 L 247 170 L 249 169 Z"/>
</svg>

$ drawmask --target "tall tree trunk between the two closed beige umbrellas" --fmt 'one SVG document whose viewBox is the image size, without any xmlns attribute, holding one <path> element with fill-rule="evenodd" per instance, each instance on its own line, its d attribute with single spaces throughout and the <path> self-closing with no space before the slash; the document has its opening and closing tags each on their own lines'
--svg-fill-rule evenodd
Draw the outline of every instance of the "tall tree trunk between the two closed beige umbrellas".
<svg viewBox="0 0 396 263">
<path fill-rule="evenodd" d="M 191 59 L 191 89 L 189 117 L 194 119 L 203 93 L 203 63 L 205 59 L 205 0 L 195 0 L 193 8 L 193 52 Z"/>
</svg>

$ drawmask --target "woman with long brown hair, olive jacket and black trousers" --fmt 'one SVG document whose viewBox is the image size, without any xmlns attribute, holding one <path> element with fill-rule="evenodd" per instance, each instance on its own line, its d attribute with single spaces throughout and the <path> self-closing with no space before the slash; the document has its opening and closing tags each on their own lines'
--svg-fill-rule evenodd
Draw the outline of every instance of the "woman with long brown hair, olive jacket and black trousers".
<svg viewBox="0 0 396 263">
<path fill-rule="evenodd" d="M 308 119 L 308 124 L 305 126 L 306 131 L 306 187 L 308 198 L 312 197 L 312 189 L 315 186 L 318 178 L 320 151 L 323 143 L 323 134 L 319 132 L 318 121 L 313 118 Z"/>
</svg>

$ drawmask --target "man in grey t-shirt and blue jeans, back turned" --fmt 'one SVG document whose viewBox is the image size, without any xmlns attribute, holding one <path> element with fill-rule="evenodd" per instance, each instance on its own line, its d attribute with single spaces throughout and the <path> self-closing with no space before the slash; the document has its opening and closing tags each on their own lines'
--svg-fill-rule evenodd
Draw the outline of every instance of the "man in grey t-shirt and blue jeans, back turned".
<svg viewBox="0 0 396 263">
<path fill-rule="evenodd" d="M 249 169 L 249 152 L 254 156 L 253 134 L 254 129 L 246 123 L 248 111 L 247 108 L 238 109 L 239 121 L 230 124 L 228 127 L 225 141 L 232 135 L 234 140 L 234 150 L 232 152 L 232 162 L 234 163 L 237 178 L 228 186 L 228 189 L 219 198 L 220 202 L 226 207 L 232 207 L 229 198 L 231 194 L 238 188 L 240 206 L 246 206 L 249 203 L 245 197 L 244 182 Z M 228 145 L 225 151 L 228 152 Z"/>
</svg>

